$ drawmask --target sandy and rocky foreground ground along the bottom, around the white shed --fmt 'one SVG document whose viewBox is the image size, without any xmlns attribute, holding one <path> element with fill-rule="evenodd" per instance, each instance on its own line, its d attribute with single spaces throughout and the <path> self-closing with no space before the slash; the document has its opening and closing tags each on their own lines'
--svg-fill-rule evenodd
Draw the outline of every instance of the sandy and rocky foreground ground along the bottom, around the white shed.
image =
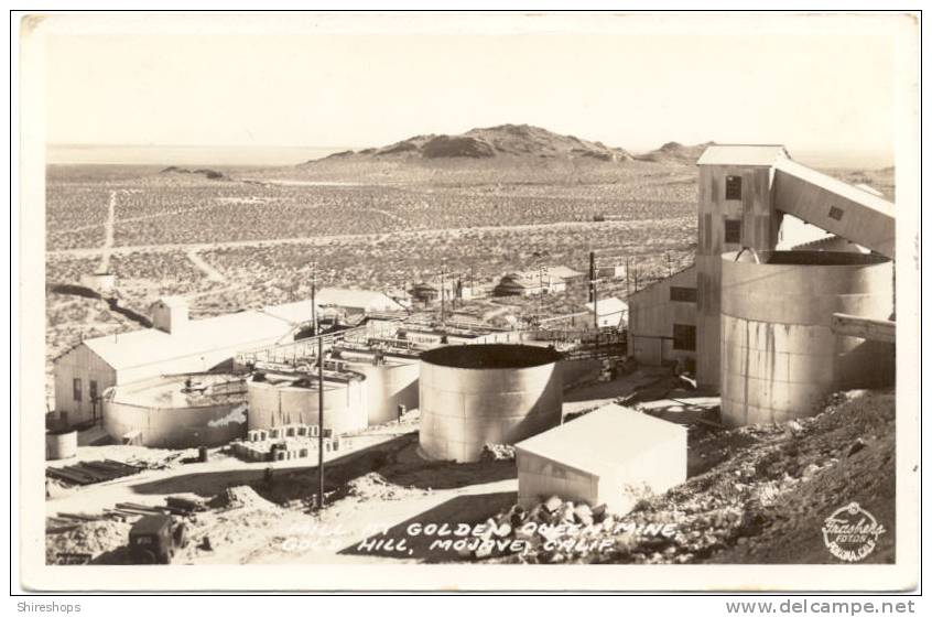
<svg viewBox="0 0 932 617">
<path fill-rule="evenodd" d="M 891 563 L 895 399 L 892 391 L 852 391 L 835 394 L 816 416 L 782 425 L 694 425 L 690 478 L 621 517 L 559 501 L 516 511 L 507 448 L 474 464 L 426 462 L 416 453 L 413 422 L 377 429 L 390 431 L 389 441 L 334 462 L 323 512 L 310 508 L 316 473 L 307 468 L 277 470 L 272 484 L 259 479 L 261 469 L 217 476 L 225 481 L 210 486 L 209 475 L 201 484 L 166 477 L 158 492 L 196 489 L 210 504 L 188 520 L 192 541 L 176 563 L 837 563 L 821 530 L 852 501 L 886 528 L 865 562 Z M 487 535 L 521 540 L 524 549 L 437 551 L 409 533 L 412 523 L 489 520 L 506 526 Z M 48 562 L 74 552 L 93 554 L 91 563 L 126 563 L 130 522 L 90 521 L 50 533 Z M 522 532 L 527 522 L 557 530 Z M 560 530 L 562 523 L 570 524 Z M 405 550 L 378 544 L 390 538 L 407 538 Z M 369 548 L 360 549 L 366 541 Z"/>
</svg>

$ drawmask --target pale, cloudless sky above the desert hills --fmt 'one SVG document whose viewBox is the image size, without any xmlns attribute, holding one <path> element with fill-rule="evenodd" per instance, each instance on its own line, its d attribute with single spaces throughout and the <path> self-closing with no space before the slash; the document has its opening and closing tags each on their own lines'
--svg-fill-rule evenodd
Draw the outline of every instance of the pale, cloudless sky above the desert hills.
<svg viewBox="0 0 932 617">
<path fill-rule="evenodd" d="M 433 30 L 59 24 L 46 33 L 46 141 L 366 148 L 510 122 L 632 151 L 714 140 L 892 156 L 882 28 L 455 17 Z"/>
</svg>

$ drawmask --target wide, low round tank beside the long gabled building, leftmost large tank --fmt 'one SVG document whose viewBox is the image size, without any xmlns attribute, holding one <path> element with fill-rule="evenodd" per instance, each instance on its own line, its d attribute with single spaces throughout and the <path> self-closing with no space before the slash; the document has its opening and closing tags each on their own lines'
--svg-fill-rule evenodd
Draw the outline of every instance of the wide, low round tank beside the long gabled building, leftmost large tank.
<svg viewBox="0 0 932 617">
<path fill-rule="evenodd" d="M 104 396 L 104 429 L 118 443 L 217 446 L 246 436 L 246 383 L 223 374 L 155 377 Z"/>
</svg>

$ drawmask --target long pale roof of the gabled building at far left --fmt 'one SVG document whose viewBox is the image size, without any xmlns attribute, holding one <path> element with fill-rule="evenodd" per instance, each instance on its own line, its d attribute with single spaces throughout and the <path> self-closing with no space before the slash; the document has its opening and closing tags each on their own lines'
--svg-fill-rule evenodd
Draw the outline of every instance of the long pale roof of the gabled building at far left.
<svg viewBox="0 0 932 617">
<path fill-rule="evenodd" d="M 84 342 L 117 370 L 212 354 L 224 349 L 246 350 L 269 339 L 289 335 L 293 326 L 258 311 L 243 311 L 206 320 L 193 320 L 174 334 L 156 328 L 138 329 Z M 232 353 L 230 353 L 232 357 Z M 209 367 L 207 367 L 209 368 Z"/>
</svg>

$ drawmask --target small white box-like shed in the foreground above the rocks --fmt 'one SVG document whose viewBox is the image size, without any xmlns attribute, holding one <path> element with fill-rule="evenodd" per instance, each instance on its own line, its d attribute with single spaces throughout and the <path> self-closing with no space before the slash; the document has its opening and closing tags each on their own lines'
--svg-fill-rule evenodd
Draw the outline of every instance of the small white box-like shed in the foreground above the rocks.
<svg viewBox="0 0 932 617">
<path fill-rule="evenodd" d="M 686 479 L 686 427 L 609 404 L 514 445 L 523 507 L 557 495 L 625 515 Z"/>
</svg>

